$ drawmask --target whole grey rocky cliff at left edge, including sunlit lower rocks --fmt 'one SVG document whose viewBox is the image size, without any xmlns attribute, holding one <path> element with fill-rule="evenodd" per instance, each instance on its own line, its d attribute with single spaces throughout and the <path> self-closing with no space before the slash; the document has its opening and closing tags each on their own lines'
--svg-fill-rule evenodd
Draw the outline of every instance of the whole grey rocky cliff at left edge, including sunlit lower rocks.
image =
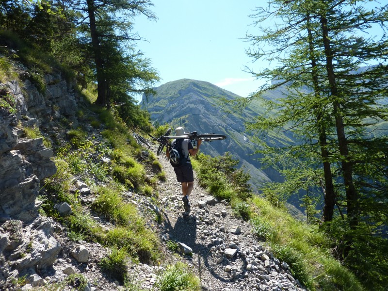
<svg viewBox="0 0 388 291">
<path fill-rule="evenodd" d="M 56 173 L 50 160 L 53 152 L 42 138 L 23 137 L 23 128 L 40 126 L 49 135 L 60 118 L 77 125 L 77 104 L 71 84 L 59 73 L 45 76 L 45 81 L 43 93 L 27 79 L 23 84 L 0 83 L 1 95 L 10 103 L 10 108 L 0 107 L 1 290 L 8 279 L 23 275 L 33 286 L 39 285 L 43 279 L 36 270 L 51 267 L 61 250 L 53 235 L 57 226 L 38 215 L 36 200 L 40 181 Z"/>
</svg>

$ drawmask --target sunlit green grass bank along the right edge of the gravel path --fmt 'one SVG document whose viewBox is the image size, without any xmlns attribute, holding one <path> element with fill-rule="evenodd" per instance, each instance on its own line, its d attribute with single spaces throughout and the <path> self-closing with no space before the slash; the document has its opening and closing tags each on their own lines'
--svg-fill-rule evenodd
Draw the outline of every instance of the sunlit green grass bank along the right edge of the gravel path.
<svg viewBox="0 0 388 291">
<path fill-rule="evenodd" d="M 297 221 L 259 196 L 252 201 L 257 209 L 253 233 L 290 265 L 301 283 L 310 290 L 363 290 L 355 275 L 330 255 L 330 242 L 318 226 Z"/>
</svg>

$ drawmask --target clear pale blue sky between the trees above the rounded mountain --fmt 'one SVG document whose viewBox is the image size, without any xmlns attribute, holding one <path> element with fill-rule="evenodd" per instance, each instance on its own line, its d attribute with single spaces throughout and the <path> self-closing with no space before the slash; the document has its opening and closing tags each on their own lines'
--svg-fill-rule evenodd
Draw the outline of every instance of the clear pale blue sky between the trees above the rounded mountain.
<svg viewBox="0 0 388 291">
<path fill-rule="evenodd" d="M 244 42 L 258 1 L 255 0 L 154 0 L 151 10 L 159 18 L 135 18 L 135 32 L 145 38 L 137 48 L 160 72 L 159 86 L 183 78 L 208 81 L 246 97 L 261 82 L 244 72 L 244 66 L 259 71 L 266 66 L 252 63 Z"/>
</svg>

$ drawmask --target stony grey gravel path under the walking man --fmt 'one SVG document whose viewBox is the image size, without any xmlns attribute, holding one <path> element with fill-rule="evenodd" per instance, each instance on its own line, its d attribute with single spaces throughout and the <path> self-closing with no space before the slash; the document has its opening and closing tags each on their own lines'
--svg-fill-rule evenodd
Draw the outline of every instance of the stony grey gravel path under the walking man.
<svg viewBox="0 0 388 291">
<path fill-rule="evenodd" d="M 206 146 L 206 145 L 204 145 Z M 182 245 L 203 290 L 303 290 L 285 262 L 263 249 L 247 222 L 236 219 L 227 203 L 218 202 L 196 183 L 191 212 L 183 210 L 181 186 L 164 155 L 158 157 L 167 181 L 158 187 L 162 238 Z"/>
</svg>

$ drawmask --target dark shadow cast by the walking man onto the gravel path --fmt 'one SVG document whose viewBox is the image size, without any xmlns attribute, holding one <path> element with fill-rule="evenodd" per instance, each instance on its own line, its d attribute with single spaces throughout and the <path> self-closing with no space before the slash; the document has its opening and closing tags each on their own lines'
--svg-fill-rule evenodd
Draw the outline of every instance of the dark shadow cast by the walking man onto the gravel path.
<svg viewBox="0 0 388 291">
<path fill-rule="evenodd" d="M 202 275 L 202 270 L 208 269 L 211 275 L 213 275 L 213 277 L 215 277 L 219 281 L 230 282 L 230 279 L 227 276 L 221 276 L 221 274 L 218 274 L 219 272 L 217 272 L 217 263 L 215 263 L 214 265 L 210 264 L 209 256 L 211 256 L 210 248 L 212 245 L 205 245 L 202 243 L 195 242 L 197 235 L 197 225 L 195 223 L 195 219 L 193 218 L 192 221 L 190 221 L 191 218 L 189 216 L 179 216 L 175 225 L 172 225 L 167 214 L 164 213 L 164 211 L 162 211 L 162 213 L 165 216 L 164 226 L 168 231 L 170 240 L 186 244 L 187 246 L 193 249 L 193 254 L 198 255 L 197 262 L 194 261 L 193 257 L 185 256 L 185 258 L 192 261 L 194 265 L 197 265 L 199 275 Z M 225 260 L 223 262 L 223 265 L 224 264 L 226 265 Z"/>
</svg>

